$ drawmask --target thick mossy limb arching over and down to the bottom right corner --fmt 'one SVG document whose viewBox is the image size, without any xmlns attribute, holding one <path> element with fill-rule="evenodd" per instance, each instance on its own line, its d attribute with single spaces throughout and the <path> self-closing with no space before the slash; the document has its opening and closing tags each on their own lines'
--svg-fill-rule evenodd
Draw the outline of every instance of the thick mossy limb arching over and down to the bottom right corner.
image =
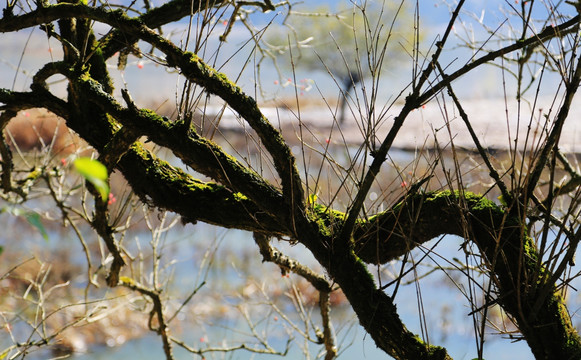
<svg viewBox="0 0 581 360">
<path fill-rule="evenodd" d="M 328 223 L 343 218 L 323 207 L 318 214 Z M 478 246 L 490 268 L 498 303 L 516 320 L 536 358 L 581 358 L 581 338 L 551 274 L 539 269 L 526 225 L 483 197 L 450 191 L 411 195 L 389 211 L 359 222 L 354 252 L 366 262 L 385 263 L 443 234 Z"/>
</svg>

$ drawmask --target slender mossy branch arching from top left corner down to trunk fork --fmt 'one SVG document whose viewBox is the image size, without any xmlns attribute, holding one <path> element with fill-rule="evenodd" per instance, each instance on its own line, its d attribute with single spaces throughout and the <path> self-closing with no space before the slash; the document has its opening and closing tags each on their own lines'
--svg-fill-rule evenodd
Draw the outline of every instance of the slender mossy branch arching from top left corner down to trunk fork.
<svg viewBox="0 0 581 360">
<path fill-rule="evenodd" d="M 296 159 L 286 145 L 282 135 L 276 130 L 258 108 L 256 100 L 246 95 L 240 87 L 208 66 L 193 53 L 184 52 L 170 41 L 165 40 L 148 28 L 139 19 L 128 17 L 123 11 L 107 11 L 80 4 L 57 4 L 40 8 L 25 15 L 0 20 L 0 32 L 15 31 L 26 27 L 51 22 L 61 18 L 89 18 L 114 28 L 124 34 L 138 37 L 154 45 L 166 55 L 169 66 L 179 68 L 192 82 L 206 91 L 222 98 L 238 112 L 256 131 L 266 150 L 272 156 L 275 168 L 282 182 L 285 209 L 279 209 L 288 223 L 301 221 L 304 213 L 304 191 L 296 167 Z M 291 210 L 292 209 L 292 210 Z"/>
</svg>

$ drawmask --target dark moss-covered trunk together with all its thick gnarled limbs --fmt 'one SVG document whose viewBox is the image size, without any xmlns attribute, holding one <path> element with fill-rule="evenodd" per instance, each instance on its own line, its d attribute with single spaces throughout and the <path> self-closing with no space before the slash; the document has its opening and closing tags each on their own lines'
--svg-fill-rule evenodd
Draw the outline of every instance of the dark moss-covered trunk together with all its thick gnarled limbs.
<svg viewBox="0 0 581 360">
<path fill-rule="evenodd" d="M 195 6 L 201 10 L 215 3 L 219 1 Z M 0 89 L 0 102 L 11 111 L 45 107 L 65 118 L 72 130 L 100 152 L 111 170 L 125 176 L 144 202 L 178 213 L 186 221 L 285 236 L 303 243 L 341 286 L 377 346 L 395 358 L 450 357 L 445 349 L 425 344 L 406 329 L 392 299 L 377 288 L 367 264 L 385 263 L 439 235 L 454 234 L 480 249 L 499 304 L 515 319 L 536 358 L 581 359 L 581 340 L 563 299 L 548 282 L 550 274 L 539 264 L 536 246 L 516 211 L 471 193 L 419 193 L 388 211 L 358 220 L 352 236 L 340 240 L 343 236 L 337 235 L 345 229 L 345 214 L 306 204 L 290 148 L 254 99 L 195 54 L 181 51 L 148 27 L 186 15 L 184 4 L 173 1 L 168 5 L 179 5 L 177 13 L 162 6 L 132 19 L 118 11 L 62 3 L 1 19 L 2 32 L 61 19 L 61 33 L 73 47 L 81 48 L 80 41 L 89 38 L 89 49 L 102 56 L 93 56 L 86 66 L 81 61 L 83 54 L 68 48 L 63 63 L 39 72 L 31 92 Z M 87 23 L 85 33 L 74 33 L 67 20 L 73 17 L 101 21 L 117 30 L 98 42 Z M 151 111 L 122 106 L 113 99 L 104 59 L 119 49 L 115 39 L 120 37 L 130 43 L 142 39 L 155 45 L 165 53 L 169 66 L 179 68 L 188 79 L 235 109 L 263 141 L 282 187 L 268 183 L 183 123 L 170 123 Z M 44 84 L 56 73 L 70 81 L 67 101 L 50 95 Z M 136 141 L 139 136 L 170 149 L 214 182 L 203 183 L 156 158 Z"/>
</svg>

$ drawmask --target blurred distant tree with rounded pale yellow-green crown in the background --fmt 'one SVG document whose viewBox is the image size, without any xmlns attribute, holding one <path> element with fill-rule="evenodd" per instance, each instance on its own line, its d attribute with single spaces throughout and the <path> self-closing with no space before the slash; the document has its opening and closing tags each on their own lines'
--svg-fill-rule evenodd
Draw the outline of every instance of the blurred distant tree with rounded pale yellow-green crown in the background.
<svg viewBox="0 0 581 360">
<path fill-rule="evenodd" d="M 298 69 L 328 72 L 340 91 L 338 122 L 342 124 L 348 103 L 357 106 L 351 92 L 361 81 L 379 79 L 413 56 L 417 34 L 409 7 L 405 1 L 337 1 L 332 7 L 315 9 L 294 6 L 282 24 L 266 32 L 263 47 L 283 66 L 291 62 Z"/>
</svg>

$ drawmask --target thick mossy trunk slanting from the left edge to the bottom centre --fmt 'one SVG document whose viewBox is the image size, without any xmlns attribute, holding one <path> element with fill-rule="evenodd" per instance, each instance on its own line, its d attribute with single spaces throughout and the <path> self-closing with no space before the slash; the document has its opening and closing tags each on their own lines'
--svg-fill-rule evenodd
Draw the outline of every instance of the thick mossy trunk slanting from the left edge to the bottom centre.
<svg viewBox="0 0 581 360">
<path fill-rule="evenodd" d="M 74 88 L 77 91 L 83 91 L 84 86 L 90 84 L 85 77 L 79 79 L 76 85 Z M 37 94 L 41 96 L 31 96 Z M 33 91 L 32 94 L 28 93 L 28 96 L 11 92 L 4 92 L 4 97 L 1 95 L 0 92 L 1 101 L 14 104 L 17 104 L 19 99 L 30 101 L 30 97 L 48 100 L 42 102 L 43 107 L 53 111 L 60 110 L 57 114 L 67 119 L 67 124 L 71 129 L 79 133 L 100 152 L 104 151 L 105 147 L 111 143 L 115 132 L 119 131 L 119 125 L 107 126 L 95 131 L 93 126 L 87 122 L 69 121 L 68 104 L 57 101 L 56 104 L 61 106 L 56 106 L 53 109 L 49 99 L 56 98 L 42 87 Z M 99 96 L 103 94 L 96 95 L 99 94 L 93 93 L 91 98 L 94 102 L 100 103 Z M 106 93 L 103 96 L 107 97 Z M 30 105 L 33 107 L 40 104 L 41 102 Z M 141 114 L 141 112 L 130 109 L 125 109 L 122 114 L 118 114 L 114 108 L 108 108 L 110 105 L 111 103 L 107 105 L 107 110 L 112 113 L 111 115 L 115 114 L 123 119 L 125 124 L 130 123 L 132 116 Z M 24 105 L 20 104 L 19 106 Z M 136 124 L 141 124 L 139 131 L 148 131 L 147 128 L 152 124 L 157 124 L 157 126 L 161 124 L 165 128 L 154 127 L 153 129 L 160 134 L 171 134 L 173 127 L 160 122 L 160 118 L 152 116 L 150 112 L 146 112 L 145 115 L 147 116 L 144 118 L 137 118 L 141 121 L 136 122 Z M 152 119 L 154 121 L 151 121 Z M 154 137 L 165 135 L 152 134 Z M 171 145 L 171 148 L 179 148 L 182 145 L 179 141 L 175 141 L 175 136 L 168 138 L 174 140 L 168 144 Z M 192 152 L 190 154 L 194 156 Z M 119 159 L 117 169 L 124 174 L 132 189 L 144 201 L 174 211 L 186 220 L 198 219 L 222 227 L 233 225 L 232 227 L 267 233 L 272 236 L 290 236 L 298 239 L 313 252 L 321 264 L 327 267 L 330 276 L 344 290 L 361 323 L 380 348 L 396 358 L 449 358 L 444 349 L 425 344 L 406 329 L 397 314 L 393 301 L 377 289 L 373 277 L 367 272 L 366 264 L 353 253 L 351 246 L 334 246 L 328 229 L 319 223 L 319 219 L 305 217 L 301 221 L 294 222 L 294 219 L 285 218 L 288 222 L 281 223 L 280 218 L 273 218 L 261 210 L 252 199 L 246 196 L 237 196 L 226 187 L 202 185 L 181 170 L 155 158 L 138 143 L 135 143 Z M 222 198 L 218 198 L 218 194 L 222 195 Z M 198 204 L 203 204 L 203 207 Z"/>
</svg>

